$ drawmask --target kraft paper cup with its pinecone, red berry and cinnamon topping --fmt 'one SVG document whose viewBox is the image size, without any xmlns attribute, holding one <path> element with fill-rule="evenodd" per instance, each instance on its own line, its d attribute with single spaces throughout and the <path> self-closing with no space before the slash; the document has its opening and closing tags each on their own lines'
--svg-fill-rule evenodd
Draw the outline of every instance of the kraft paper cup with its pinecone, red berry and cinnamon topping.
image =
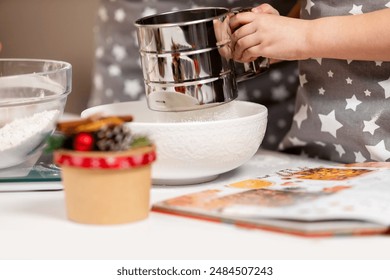
<svg viewBox="0 0 390 280">
<path fill-rule="evenodd" d="M 68 218 L 85 224 L 143 220 L 150 210 L 154 144 L 133 135 L 131 116 L 60 122 L 47 146 L 61 168 Z"/>
</svg>

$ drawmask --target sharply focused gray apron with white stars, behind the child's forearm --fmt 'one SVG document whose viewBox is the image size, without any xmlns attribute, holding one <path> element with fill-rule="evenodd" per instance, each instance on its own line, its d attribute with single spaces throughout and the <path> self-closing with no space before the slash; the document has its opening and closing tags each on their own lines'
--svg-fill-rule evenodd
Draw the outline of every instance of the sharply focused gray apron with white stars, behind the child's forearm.
<svg viewBox="0 0 390 280">
<path fill-rule="evenodd" d="M 389 7 L 389 0 L 305 0 L 301 17 Z M 390 160 L 390 62 L 313 58 L 299 62 L 299 80 L 296 113 L 281 150 L 337 162 Z"/>
</svg>

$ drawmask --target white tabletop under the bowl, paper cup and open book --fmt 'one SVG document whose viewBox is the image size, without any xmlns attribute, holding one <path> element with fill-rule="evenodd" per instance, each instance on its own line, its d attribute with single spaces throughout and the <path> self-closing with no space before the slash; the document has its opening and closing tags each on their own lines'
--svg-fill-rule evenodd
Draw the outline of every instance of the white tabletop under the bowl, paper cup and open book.
<svg viewBox="0 0 390 280">
<path fill-rule="evenodd" d="M 245 165 L 212 182 L 154 186 L 151 203 L 315 163 L 260 150 Z M 132 224 L 91 226 L 67 220 L 63 191 L 0 192 L 0 259 L 389 258 L 390 236 L 304 238 L 154 212 Z"/>
</svg>

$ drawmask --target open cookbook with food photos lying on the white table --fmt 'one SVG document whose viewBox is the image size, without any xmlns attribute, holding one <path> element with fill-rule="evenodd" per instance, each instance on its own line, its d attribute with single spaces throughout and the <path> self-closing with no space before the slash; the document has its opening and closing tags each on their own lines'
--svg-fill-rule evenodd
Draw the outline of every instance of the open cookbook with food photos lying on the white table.
<svg viewBox="0 0 390 280">
<path fill-rule="evenodd" d="M 390 163 L 286 169 L 161 201 L 153 210 L 313 237 L 387 233 Z"/>
</svg>

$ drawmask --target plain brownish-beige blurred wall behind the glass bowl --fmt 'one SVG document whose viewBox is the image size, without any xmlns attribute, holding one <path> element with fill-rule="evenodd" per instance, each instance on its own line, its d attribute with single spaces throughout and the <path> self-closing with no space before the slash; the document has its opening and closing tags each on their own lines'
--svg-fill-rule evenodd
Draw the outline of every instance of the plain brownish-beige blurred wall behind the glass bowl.
<svg viewBox="0 0 390 280">
<path fill-rule="evenodd" d="M 91 92 L 98 4 L 99 0 L 0 0 L 0 57 L 70 62 L 73 90 L 65 108 L 70 113 L 85 109 Z"/>
</svg>

